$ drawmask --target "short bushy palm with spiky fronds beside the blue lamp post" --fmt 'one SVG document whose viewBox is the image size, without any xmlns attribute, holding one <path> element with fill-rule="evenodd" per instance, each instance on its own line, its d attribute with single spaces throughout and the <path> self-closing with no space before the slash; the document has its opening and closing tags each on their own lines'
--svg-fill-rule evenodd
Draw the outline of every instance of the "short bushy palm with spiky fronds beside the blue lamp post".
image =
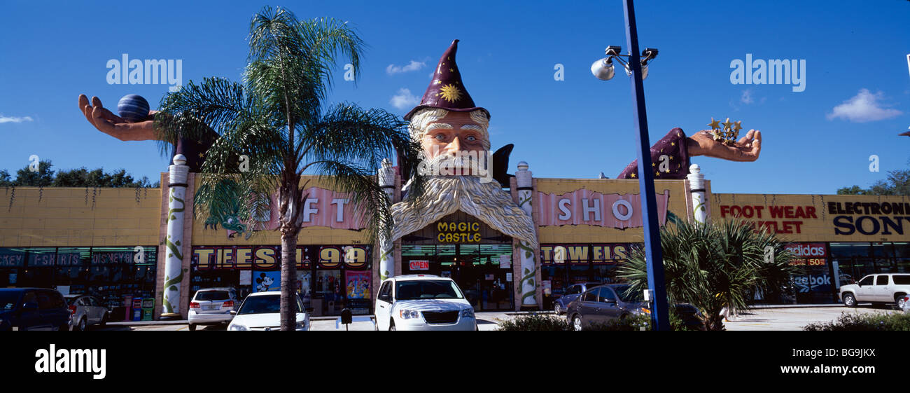
<svg viewBox="0 0 910 393">
<path fill-rule="evenodd" d="M 661 248 L 667 296 L 698 307 L 708 330 L 723 330 L 723 307 L 748 309 L 750 294 L 777 291 L 794 273 L 784 244 L 741 220 L 662 227 Z M 630 290 L 648 287 L 643 250 L 630 254 L 619 276 Z"/>
</svg>

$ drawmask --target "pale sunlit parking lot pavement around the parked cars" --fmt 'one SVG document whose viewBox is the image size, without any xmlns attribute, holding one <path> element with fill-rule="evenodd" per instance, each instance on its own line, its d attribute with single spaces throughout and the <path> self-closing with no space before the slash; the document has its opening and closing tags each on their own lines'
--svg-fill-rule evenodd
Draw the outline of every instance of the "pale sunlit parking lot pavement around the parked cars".
<svg viewBox="0 0 910 393">
<path fill-rule="evenodd" d="M 749 312 L 740 313 L 725 323 L 727 330 L 801 330 L 807 324 L 814 322 L 829 322 L 841 316 L 841 313 L 885 313 L 898 312 L 891 307 L 861 306 L 848 308 L 839 305 L 828 307 L 781 307 L 781 308 L 756 308 Z M 514 313 L 505 312 L 479 312 L 476 314 L 480 330 L 495 330 L 497 321 L 515 317 Z M 224 330 L 226 326 L 199 327 L 200 331 Z M 338 325 L 337 319 L 319 317 L 311 321 L 310 328 L 317 331 L 345 331 L 344 325 Z M 371 321 L 355 321 L 349 325 L 351 331 L 373 330 Z M 89 330 L 183 330 L 188 331 L 186 321 L 182 322 L 143 322 L 123 323 L 115 322 L 106 328 L 89 328 Z"/>
</svg>

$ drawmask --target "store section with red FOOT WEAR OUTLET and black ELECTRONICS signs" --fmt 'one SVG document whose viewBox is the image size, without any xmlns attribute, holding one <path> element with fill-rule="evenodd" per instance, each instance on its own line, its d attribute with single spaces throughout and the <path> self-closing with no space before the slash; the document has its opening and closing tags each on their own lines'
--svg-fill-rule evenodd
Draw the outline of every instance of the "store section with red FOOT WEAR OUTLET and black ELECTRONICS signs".
<svg viewBox="0 0 910 393">
<path fill-rule="evenodd" d="M 869 274 L 910 272 L 905 196 L 714 194 L 714 219 L 742 218 L 789 243 L 794 303 L 834 303 Z M 906 224 L 906 225 L 905 225 Z"/>
</svg>

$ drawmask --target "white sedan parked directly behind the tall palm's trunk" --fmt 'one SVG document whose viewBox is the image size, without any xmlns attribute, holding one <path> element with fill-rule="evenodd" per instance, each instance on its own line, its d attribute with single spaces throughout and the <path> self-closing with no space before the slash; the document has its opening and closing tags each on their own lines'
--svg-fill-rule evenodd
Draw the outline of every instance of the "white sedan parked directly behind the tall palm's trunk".
<svg viewBox="0 0 910 393">
<path fill-rule="evenodd" d="M 295 295 L 297 324 L 295 330 L 309 329 L 309 315 L 303 307 L 303 300 Z M 227 330 L 281 330 L 281 293 L 256 292 L 243 300 L 238 311 L 231 311 L 234 319 Z"/>
</svg>

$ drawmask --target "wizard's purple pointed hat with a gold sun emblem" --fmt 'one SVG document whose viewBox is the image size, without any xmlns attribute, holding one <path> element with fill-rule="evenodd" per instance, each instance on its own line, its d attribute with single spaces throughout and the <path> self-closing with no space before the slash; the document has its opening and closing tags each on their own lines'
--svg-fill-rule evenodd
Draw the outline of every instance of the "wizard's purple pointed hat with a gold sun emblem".
<svg viewBox="0 0 910 393">
<path fill-rule="evenodd" d="M 417 111 L 423 108 L 435 107 L 452 112 L 470 112 L 482 110 L 490 117 L 490 111 L 474 106 L 474 100 L 470 98 L 468 89 L 461 82 L 461 73 L 458 65 L 455 64 L 455 53 L 458 52 L 458 40 L 452 41 L 446 53 L 440 57 L 439 65 L 436 65 L 436 72 L 433 73 L 433 80 L 427 87 L 426 93 L 420 99 L 420 105 L 415 106 L 404 116 L 405 120 L 410 120 Z"/>
</svg>

